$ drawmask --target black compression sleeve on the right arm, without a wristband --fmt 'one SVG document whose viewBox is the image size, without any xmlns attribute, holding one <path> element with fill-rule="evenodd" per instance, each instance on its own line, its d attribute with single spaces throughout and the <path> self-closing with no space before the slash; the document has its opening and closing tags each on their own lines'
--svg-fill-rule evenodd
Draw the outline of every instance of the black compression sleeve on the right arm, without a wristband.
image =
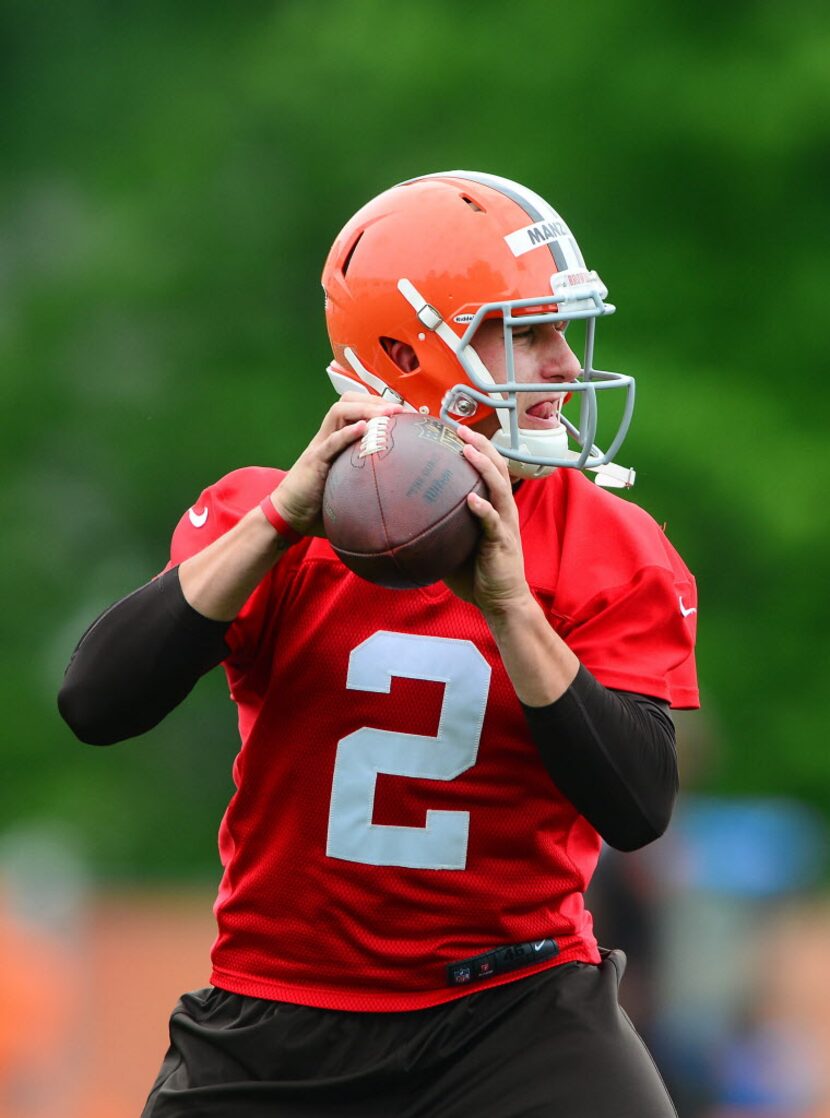
<svg viewBox="0 0 830 1118">
<path fill-rule="evenodd" d="M 547 707 L 524 707 L 545 768 L 616 850 L 638 850 L 669 824 L 678 792 L 668 703 L 604 688 L 584 666 Z"/>
</svg>

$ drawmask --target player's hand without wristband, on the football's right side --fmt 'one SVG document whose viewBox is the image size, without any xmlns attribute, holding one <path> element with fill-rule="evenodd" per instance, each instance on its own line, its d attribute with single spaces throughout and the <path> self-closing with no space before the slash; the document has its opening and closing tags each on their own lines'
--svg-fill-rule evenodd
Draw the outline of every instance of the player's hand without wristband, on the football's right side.
<svg viewBox="0 0 830 1118">
<path fill-rule="evenodd" d="M 489 438 L 469 427 L 459 427 L 456 434 L 465 444 L 464 457 L 484 479 L 489 500 L 478 493 L 468 496 L 470 511 L 481 521 L 481 541 L 472 558 L 445 581 L 484 616 L 503 613 L 530 594 L 512 482 L 507 461 Z"/>
</svg>

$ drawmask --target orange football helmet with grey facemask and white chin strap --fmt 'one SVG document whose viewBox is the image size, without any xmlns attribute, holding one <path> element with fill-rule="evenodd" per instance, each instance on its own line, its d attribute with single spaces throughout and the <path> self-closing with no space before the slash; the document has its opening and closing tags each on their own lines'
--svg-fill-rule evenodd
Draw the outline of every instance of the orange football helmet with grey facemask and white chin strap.
<svg viewBox="0 0 830 1118">
<path fill-rule="evenodd" d="M 494 413 L 493 443 L 516 476 L 576 466 L 596 471 L 604 484 L 633 483 L 633 471 L 611 458 L 631 421 L 634 380 L 593 368 L 596 320 L 614 307 L 565 221 L 527 187 L 475 171 L 398 183 L 347 222 L 322 284 L 337 391 L 386 395 L 451 425 L 477 425 Z M 503 322 L 506 382 L 494 381 L 473 347 L 485 318 Z M 516 381 L 512 329 L 574 319 L 586 328 L 581 375 L 554 390 L 579 398 L 578 423 L 563 415 L 555 429 L 520 428 L 517 394 L 551 386 Z M 413 370 L 389 356 L 393 340 L 412 347 Z M 612 388 L 625 400 L 604 452 L 595 445 L 597 392 Z"/>
</svg>

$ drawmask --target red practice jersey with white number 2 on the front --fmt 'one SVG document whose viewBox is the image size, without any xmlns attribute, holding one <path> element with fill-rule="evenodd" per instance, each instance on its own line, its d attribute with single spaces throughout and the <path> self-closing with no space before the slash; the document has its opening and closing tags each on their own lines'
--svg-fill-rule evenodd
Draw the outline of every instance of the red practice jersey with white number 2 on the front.
<svg viewBox="0 0 830 1118">
<path fill-rule="evenodd" d="M 171 563 L 281 476 L 249 467 L 205 490 Z M 574 470 L 516 496 L 528 580 L 582 663 L 610 688 L 697 705 L 695 582 L 654 521 Z M 371 586 L 312 538 L 227 642 L 242 747 L 219 833 L 215 985 L 414 1010 L 481 989 L 449 968 L 506 945 L 554 939 L 558 954 L 488 986 L 598 961 L 583 893 L 600 836 L 543 767 L 474 606 L 443 584 Z"/>
</svg>

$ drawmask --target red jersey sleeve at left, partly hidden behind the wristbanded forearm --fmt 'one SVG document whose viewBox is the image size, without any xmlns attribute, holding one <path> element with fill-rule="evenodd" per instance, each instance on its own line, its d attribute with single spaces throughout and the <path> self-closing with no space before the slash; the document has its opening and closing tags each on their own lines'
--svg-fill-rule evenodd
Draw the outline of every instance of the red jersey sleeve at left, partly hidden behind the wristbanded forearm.
<svg viewBox="0 0 830 1118">
<path fill-rule="evenodd" d="M 170 560 L 164 570 L 197 555 L 228 532 L 284 476 L 282 470 L 247 466 L 226 474 L 202 490 L 176 525 L 170 541 Z M 246 651 L 256 646 L 268 612 L 270 589 L 271 580 L 263 579 L 230 624 L 225 641 L 232 659 L 244 659 Z"/>
</svg>

